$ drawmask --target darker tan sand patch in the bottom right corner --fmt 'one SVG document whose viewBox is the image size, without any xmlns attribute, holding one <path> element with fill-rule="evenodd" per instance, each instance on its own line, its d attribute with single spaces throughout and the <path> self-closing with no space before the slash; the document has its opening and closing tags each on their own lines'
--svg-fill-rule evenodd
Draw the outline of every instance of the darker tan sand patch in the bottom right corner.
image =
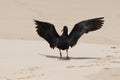
<svg viewBox="0 0 120 80">
<path fill-rule="evenodd" d="M 120 62 L 119 62 L 120 63 Z M 105 68 L 97 74 L 89 75 L 91 80 L 120 80 L 120 67 L 118 68 Z"/>
</svg>

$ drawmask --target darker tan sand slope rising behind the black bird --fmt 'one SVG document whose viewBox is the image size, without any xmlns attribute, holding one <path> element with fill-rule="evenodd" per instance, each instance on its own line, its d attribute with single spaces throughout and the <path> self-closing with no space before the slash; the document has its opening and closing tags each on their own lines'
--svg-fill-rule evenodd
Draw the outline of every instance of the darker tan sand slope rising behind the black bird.
<svg viewBox="0 0 120 80">
<path fill-rule="evenodd" d="M 0 0 L 0 38 L 38 40 L 33 19 L 55 24 L 60 33 L 86 19 L 105 17 L 104 27 L 81 42 L 120 44 L 119 0 Z"/>
</svg>

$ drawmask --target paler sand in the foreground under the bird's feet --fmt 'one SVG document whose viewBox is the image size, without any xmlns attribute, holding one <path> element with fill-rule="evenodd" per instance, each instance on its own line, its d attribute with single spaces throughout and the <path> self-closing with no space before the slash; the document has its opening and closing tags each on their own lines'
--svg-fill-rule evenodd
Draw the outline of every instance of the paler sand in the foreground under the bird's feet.
<svg viewBox="0 0 120 80">
<path fill-rule="evenodd" d="M 1 39 L 0 48 L 1 80 L 96 80 L 100 70 L 109 73 L 116 67 L 113 76 L 120 75 L 120 47 L 115 45 L 78 43 L 69 50 L 70 60 L 64 59 L 64 51 L 64 58 L 59 59 L 58 50 L 50 49 L 44 41 Z"/>
</svg>

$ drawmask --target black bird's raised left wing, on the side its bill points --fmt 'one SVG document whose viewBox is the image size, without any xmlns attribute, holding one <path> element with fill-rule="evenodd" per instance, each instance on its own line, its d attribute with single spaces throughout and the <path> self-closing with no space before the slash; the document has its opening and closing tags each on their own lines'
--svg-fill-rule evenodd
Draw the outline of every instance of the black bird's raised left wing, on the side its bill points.
<svg viewBox="0 0 120 80">
<path fill-rule="evenodd" d="M 55 47 L 55 40 L 59 37 L 58 33 L 55 30 L 55 27 L 51 23 L 42 22 L 34 20 L 37 25 L 37 33 L 39 36 L 44 38 L 49 44 L 51 48 Z"/>
</svg>

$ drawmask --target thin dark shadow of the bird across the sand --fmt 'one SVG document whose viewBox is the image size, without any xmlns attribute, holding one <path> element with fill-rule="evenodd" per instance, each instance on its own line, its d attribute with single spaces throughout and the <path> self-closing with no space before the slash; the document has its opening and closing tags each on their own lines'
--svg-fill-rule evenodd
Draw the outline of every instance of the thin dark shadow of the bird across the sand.
<svg viewBox="0 0 120 80">
<path fill-rule="evenodd" d="M 101 59 L 100 57 L 69 57 L 69 59 L 66 59 L 66 57 L 62 57 L 60 58 L 59 56 L 52 56 L 52 55 L 46 55 L 46 54 L 40 54 L 41 56 L 45 56 L 47 58 L 55 58 L 55 59 L 60 59 L 60 60 L 70 60 L 70 59 L 76 59 L 76 60 L 80 60 L 80 59 Z"/>
</svg>

